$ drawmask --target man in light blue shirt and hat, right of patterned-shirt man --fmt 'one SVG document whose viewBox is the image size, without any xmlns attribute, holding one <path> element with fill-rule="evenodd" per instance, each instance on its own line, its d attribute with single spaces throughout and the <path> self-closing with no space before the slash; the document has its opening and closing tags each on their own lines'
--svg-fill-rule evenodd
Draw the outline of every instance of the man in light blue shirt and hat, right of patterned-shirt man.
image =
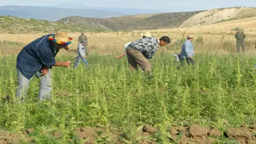
<svg viewBox="0 0 256 144">
<path fill-rule="evenodd" d="M 186 42 L 184 42 L 184 44 L 182 45 L 182 50 L 181 50 L 181 63 L 180 65 L 184 65 L 184 61 L 186 60 L 188 65 L 195 64 L 195 61 L 193 60 L 193 55 L 194 53 L 194 48 L 192 45 L 192 41 L 194 39 L 193 35 L 188 35 L 188 40 L 186 40 Z"/>
</svg>

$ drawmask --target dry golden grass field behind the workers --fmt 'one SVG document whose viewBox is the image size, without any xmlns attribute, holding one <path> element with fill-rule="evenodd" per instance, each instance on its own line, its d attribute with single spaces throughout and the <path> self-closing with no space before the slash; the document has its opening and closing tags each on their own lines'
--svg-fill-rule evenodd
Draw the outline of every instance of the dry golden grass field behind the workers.
<svg viewBox="0 0 256 144">
<path fill-rule="evenodd" d="M 211 24 L 207 26 L 197 26 L 192 28 L 175 28 L 175 29 L 157 29 L 150 30 L 152 35 L 156 38 L 161 36 L 170 36 L 173 39 L 172 44 L 167 47 L 163 47 L 159 50 L 161 52 L 179 52 L 181 45 L 175 45 L 177 40 L 186 38 L 189 33 L 193 33 L 195 36 L 202 36 L 204 38 L 203 44 L 195 44 L 196 53 L 202 52 L 214 52 L 214 53 L 230 53 L 236 52 L 236 38 L 234 37 L 236 31 L 230 31 L 233 28 L 243 28 L 246 33 L 246 44 L 248 54 L 253 54 L 254 44 L 256 42 L 256 17 L 233 20 L 229 22 L 223 22 L 218 24 Z M 130 31 L 130 32 L 118 32 L 118 33 L 86 33 L 88 36 L 89 47 L 92 54 L 101 55 L 115 55 L 123 51 L 124 44 L 131 42 L 138 38 L 141 38 L 140 33 L 142 31 Z M 12 42 L 22 42 L 24 45 L 35 40 L 36 38 L 45 35 L 46 33 L 36 34 L 0 34 L 0 42 L 8 40 Z M 75 40 L 75 43 L 70 45 L 70 49 L 77 49 L 77 38 L 79 33 L 69 33 Z M 222 49 L 223 45 L 231 45 L 230 49 Z M 17 54 L 24 45 L 13 47 L 12 49 L 4 49 L 2 46 L 0 51 L 2 54 Z M 222 45 L 222 46 L 221 46 Z"/>
</svg>

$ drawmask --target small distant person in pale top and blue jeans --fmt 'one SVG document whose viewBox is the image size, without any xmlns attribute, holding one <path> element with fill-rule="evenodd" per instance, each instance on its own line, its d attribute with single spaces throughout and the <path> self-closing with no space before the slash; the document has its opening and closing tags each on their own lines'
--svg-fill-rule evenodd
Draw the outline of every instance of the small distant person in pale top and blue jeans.
<svg viewBox="0 0 256 144">
<path fill-rule="evenodd" d="M 73 68 L 77 67 L 77 65 L 80 63 L 80 59 L 84 62 L 86 67 L 88 67 L 88 62 L 84 58 L 86 52 L 87 52 L 86 41 L 82 40 L 81 43 L 79 43 L 78 46 L 77 46 L 77 61 L 76 61 L 76 63 L 75 63 Z"/>
</svg>

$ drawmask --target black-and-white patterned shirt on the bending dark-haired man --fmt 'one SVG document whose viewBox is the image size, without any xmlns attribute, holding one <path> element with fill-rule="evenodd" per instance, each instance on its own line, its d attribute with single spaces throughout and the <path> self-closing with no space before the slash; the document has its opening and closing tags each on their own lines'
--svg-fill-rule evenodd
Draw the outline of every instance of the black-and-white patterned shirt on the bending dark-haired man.
<svg viewBox="0 0 256 144">
<path fill-rule="evenodd" d="M 147 37 L 132 42 L 128 45 L 128 47 L 141 51 L 145 58 L 151 59 L 156 54 L 159 47 L 159 42 L 156 38 Z"/>
</svg>

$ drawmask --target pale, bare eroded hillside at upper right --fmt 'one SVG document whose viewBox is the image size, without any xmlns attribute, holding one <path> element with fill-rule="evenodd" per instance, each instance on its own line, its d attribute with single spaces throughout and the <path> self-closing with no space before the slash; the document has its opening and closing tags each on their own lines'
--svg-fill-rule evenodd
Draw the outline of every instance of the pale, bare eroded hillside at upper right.
<svg viewBox="0 0 256 144">
<path fill-rule="evenodd" d="M 219 8 L 207 10 L 198 13 L 184 21 L 179 28 L 188 28 L 191 26 L 203 26 L 216 22 L 224 22 L 227 20 L 243 19 L 246 17 L 255 17 L 256 8 L 235 7 L 235 8 Z"/>
</svg>

